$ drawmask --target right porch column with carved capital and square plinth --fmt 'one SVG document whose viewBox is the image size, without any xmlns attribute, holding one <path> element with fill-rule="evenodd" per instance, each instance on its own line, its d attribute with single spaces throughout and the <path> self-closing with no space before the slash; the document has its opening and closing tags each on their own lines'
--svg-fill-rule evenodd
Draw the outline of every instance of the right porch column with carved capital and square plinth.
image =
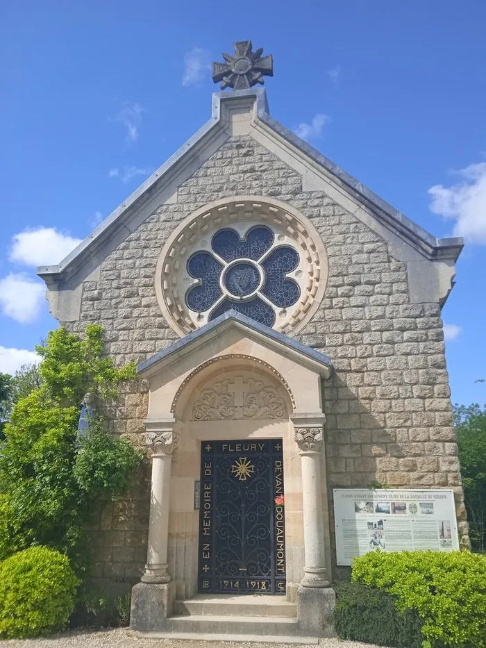
<svg viewBox="0 0 486 648">
<path fill-rule="evenodd" d="M 297 591 L 297 617 L 306 631 L 330 631 L 335 594 L 330 588 L 324 550 L 321 449 L 323 413 L 292 415 L 294 439 L 299 446 L 302 471 L 304 576 Z M 321 636 L 321 634 L 319 634 Z"/>
</svg>

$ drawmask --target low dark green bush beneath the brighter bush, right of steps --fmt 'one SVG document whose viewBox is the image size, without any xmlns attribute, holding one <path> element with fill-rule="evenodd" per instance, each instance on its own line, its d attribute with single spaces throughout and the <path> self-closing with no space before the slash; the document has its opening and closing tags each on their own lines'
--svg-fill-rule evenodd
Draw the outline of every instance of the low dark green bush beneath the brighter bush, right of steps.
<svg viewBox="0 0 486 648">
<path fill-rule="evenodd" d="M 361 583 L 342 581 L 336 588 L 334 626 L 340 639 L 394 648 L 421 648 L 421 621 L 415 610 L 401 612 L 395 597 Z"/>
</svg>

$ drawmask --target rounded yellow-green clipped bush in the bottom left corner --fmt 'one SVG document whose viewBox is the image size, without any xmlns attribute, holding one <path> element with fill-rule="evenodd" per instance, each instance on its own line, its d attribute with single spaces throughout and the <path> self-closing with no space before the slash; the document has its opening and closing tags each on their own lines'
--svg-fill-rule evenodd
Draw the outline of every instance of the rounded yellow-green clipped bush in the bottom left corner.
<svg viewBox="0 0 486 648">
<path fill-rule="evenodd" d="M 80 581 L 67 556 L 31 547 L 0 563 L 0 637 L 26 638 L 65 626 Z"/>
</svg>

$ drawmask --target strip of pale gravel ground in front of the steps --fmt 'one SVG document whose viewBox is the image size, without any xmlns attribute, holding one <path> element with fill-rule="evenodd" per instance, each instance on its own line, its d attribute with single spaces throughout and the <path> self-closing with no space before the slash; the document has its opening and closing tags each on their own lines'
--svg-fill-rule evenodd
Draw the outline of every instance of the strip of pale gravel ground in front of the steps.
<svg viewBox="0 0 486 648">
<path fill-rule="evenodd" d="M 97 631 L 75 631 L 47 639 L 12 639 L 0 641 L 5 648 L 290 648 L 290 644 L 234 641 L 189 641 L 178 639 L 140 638 L 127 628 Z M 294 644 L 296 648 L 316 648 L 316 645 Z M 321 639 L 319 648 L 378 648 L 371 644 L 340 639 Z"/>
</svg>

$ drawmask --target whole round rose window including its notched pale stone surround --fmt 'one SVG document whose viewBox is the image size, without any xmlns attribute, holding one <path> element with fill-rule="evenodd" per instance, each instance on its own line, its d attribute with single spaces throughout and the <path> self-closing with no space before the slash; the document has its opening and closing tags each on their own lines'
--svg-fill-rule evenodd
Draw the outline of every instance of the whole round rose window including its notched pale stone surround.
<svg viewBox="0 0 486 648">
<path fill-rule="evenodd" d="M 227 310 L 290 333 L 324 295 L 327 258 L 310 222 L 280 201 L 217 201 L 187 217 L 157 265 L 167 321 L 185 335 Z"/>
</svg>

